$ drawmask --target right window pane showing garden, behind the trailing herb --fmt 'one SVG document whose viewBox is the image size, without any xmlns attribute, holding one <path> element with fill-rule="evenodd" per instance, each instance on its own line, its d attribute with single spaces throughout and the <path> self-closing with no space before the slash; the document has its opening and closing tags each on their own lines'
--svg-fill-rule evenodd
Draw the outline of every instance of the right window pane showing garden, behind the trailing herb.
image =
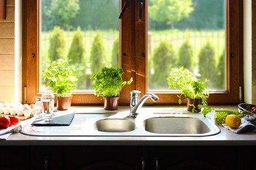
<svg viewBox="0 0 256 170">
<path fill-rule="evenodd" d="M 148 91 L 174 91 L 166 79 L 179 67 L 226 90 L 225 1 L 165 2 L 148 1 Z"/>
</svg>

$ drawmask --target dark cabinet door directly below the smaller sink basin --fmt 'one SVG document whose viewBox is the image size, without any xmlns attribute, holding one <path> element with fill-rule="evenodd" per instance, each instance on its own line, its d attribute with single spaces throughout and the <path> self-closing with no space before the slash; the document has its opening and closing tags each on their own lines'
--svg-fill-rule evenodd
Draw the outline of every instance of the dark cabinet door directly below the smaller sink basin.
<svg viewBox="0 0 256 170">
<path fill-rule="evenodd" d="M 149 169 L 149 150 L 135 146 L 72 146 L 64 149 L 65 169 Z"/>
</svg>

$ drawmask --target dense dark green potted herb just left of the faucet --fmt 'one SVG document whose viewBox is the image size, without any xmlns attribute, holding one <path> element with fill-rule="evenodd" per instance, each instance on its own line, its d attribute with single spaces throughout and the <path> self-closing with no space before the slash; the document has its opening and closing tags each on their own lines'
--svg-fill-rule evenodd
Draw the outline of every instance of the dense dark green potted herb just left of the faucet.
<svg viewBox="0 0 256 170">
<path fill-rule="evenodd" d="M 95 86 L 95 95 L 102 96 L 105 110 L 117 110 L 120 92 L 126 84 L 131 84 L 133 78 L 129 81 L 123 81 L 123 69 L 113 67 L 102 67 L 101 71 L 91 75 L 93 86 Z"/>
</svg>

